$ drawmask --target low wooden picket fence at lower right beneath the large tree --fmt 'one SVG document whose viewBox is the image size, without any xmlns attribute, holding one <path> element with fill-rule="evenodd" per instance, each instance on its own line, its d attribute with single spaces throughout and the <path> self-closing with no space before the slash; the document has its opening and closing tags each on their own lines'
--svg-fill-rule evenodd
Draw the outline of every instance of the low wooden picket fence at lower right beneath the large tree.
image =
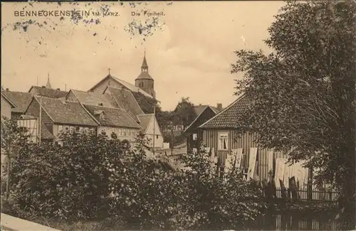
<svg viewBox="0 0 356 231">
<path fill-rule="evenodd" d="M 292 198 L 292 193 L 289 188 L 286 188 L 286 198 Z M 308 190 L 306 188 L 299 188 L 296 190 L 296 200 L 313 200 L 320 202 L 333 202 L 337 201 L 339 193 L 335 189 L 323 189 L 323 190 L 315 190 L 311 191 L 311 197 L 308 199 Z M 283 198 L 282 188 L 276 189 L 277 198 Z"/>
</svg>

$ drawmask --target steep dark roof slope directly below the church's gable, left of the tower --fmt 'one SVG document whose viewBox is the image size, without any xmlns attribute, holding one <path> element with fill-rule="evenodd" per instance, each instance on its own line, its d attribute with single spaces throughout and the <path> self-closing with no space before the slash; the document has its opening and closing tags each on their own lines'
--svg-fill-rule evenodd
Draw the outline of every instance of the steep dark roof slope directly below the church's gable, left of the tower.
<svg viewBox="0 0 356 231">
<path fill-rule="evenodd" d="M 119 89 L 116 87 L 108 87 L 108 89 L 115 98 L 118 106 L 125 109 L 125 111 L 129 113 L 132 118 L 135 119 L 137 114 L 145 113 L 142 111 L 140 105 L 137 103 L 130 90 Z"/>
</svg>

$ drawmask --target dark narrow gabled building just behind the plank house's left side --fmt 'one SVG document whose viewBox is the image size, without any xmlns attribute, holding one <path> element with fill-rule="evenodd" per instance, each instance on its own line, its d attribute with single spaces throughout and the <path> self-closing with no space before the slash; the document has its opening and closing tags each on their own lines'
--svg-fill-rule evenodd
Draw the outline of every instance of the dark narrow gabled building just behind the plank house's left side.
<svg viewBox="0 0 356 231">
<path fill-rule="evenodd" d="M 183 134 L 187 136 L 187 151 L 198 149 L 199 144 L 202 141 L 202 130 L 199 129 L 201 124 L 204 124 L 208 119 L 214 117 L 221 111 L 222 104 L 218 104 L 218 107 L 211 107 L 209 105 L 194 106 L 194 112 L 197 117 L 189 126 L 183 131 Z"/>
</svg>

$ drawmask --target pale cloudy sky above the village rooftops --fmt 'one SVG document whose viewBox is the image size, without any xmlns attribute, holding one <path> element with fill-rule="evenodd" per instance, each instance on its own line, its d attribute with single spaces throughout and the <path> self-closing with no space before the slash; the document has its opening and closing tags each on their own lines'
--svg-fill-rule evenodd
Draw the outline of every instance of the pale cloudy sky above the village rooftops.
<svg viewBox="0 0 356 231">
<path fill-rule="evenodd" d="M 194 104 L 236 100 L 234 86 L 242 73 L 231 74 L 234 50 L 263 50 L 263 39 L 283 1 L 174 1 L 109 4 L 57 2 L 1 3 L 1 85 L 27 92 L 32 85 L 89 90 L 111 75 L 135 84 L 146 51 L 157 100 L 172 110 L 182 97 Z M 21 16 L 21 11 L 87 11 L 78 22 L 61 16 Z M 152 21 L 144 11 L 163 12 L 152 35 L 130 33 L 130 23 Z M 99 12 L 100 16 L 92 16 Z M 132 12 L 136 15 L 132 16 Z M 140 16 L 137 13 L 141 13 Z M 18 14 L 18 15 L 16 15 Z M 83 20 L 99 19 L 100 23 Z M 32 20 L 26 31 L 14 23 Z M 39 23 L 38 26 L 36 23 Z M 155 30 L 156 29 L 156 30 Z M 144 33 L 145 34 L 145 33 Z"/>
</svg>

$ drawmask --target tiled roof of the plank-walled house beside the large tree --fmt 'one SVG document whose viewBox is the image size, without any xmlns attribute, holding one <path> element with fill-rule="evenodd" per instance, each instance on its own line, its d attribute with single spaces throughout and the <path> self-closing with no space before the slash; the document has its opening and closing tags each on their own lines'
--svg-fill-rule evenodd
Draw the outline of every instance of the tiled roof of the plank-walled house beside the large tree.
<svg viewBox="0 0 356 231">
<path fill-rule="evenodd" d="M 226 107 L 215 117 L 209 119 L 200 128 L 203 129 L 223 129 L 223 128 L 238 128 L 238 114 L 244 113 L 248 107 L 250 100 L 245 95 L 235 100 L 229 107 Z"/>
</svg>

